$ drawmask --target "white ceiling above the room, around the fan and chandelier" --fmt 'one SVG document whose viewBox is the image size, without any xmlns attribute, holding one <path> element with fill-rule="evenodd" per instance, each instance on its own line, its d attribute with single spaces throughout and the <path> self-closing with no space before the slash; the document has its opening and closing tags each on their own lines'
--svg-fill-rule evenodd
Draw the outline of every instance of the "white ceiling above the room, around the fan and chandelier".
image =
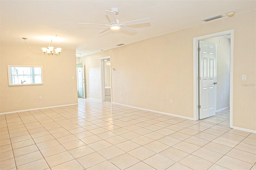
<svg viewBox="0 0 256 170">
<path fill-rule="evenodd" d="M 102 32 L 109 24 L 105 10 L 116 7 L 120 22 L 149 17 L 150 24 L 130 26 L 137 33 Z M 204 24 L 206 18 L 256 9 L 255 0 L 0 0 L 1 43 L 76 49 L 81 56 L 184 28 Z M 218 19 L 221 20 L 222 18 Z M 212 22 L 212 21 L 210 21 Z M 57 38 L 55 35 L 58 35 Z M 55 38 L 54 38 L 55 37 Z"/>
</svg>

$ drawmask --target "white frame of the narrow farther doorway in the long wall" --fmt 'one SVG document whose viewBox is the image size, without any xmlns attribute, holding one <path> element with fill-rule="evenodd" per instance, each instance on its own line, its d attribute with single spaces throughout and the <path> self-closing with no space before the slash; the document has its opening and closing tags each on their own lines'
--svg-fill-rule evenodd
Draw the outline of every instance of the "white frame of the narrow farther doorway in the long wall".
<svg viewBox="0 0 256 170">
<path fill-rule="evenodd" d="M 104 59 L 110 59 L 110 55 L 106 57 L 100 58 L 100 91 L 101 91 L 101 101 L 105 101 L 105 62 Z M 110 60 L 111 62 L 111 60 Z M 110 71 L 110 88 L 112 88 L 111 82 L 111 71 Z M 112 90 L 110 91 L 111 97 L 110 100 L 112 101 Z"/>
</svg>

